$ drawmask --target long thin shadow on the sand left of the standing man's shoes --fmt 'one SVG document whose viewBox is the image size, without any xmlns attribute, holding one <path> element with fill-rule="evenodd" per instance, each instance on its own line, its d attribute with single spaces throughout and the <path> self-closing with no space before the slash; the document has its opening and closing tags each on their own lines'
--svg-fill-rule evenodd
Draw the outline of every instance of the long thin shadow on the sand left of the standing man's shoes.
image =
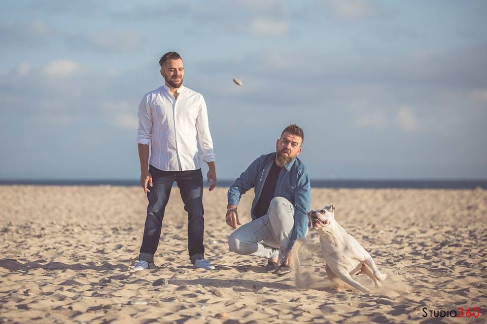
<svg viewBox="0 0 487 324">
<path fill-rule="evenodd" d="M 47 262 L 47 263 L 45 263 Z M 15 259 L 3 259 L 0 260 L 0 267 L 7 269 L 9 271 L 27 271 L 27 270 L 95 270 L 95 271 L 107 271 L 114 269 L 127 269 L 126 265 L 123 264 L 110 264 L 103 263 L 102 265 L 96 265 L 94 262 L 87 262 L 86 264 L 66 264 L 62 262 L 46 261 L 46 260 L 36 260 L 33 262 L 21 263 Z"/>
</svg>

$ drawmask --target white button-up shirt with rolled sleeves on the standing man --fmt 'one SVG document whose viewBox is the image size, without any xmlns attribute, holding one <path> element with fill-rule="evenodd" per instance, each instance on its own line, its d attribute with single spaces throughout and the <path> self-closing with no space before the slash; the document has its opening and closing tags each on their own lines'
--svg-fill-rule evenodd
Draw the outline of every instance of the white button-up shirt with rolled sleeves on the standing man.
<svg viewBox="0 0 487 324">
<path fill-rule="evenodd" d="M 148 92 L 138 106 L 137 143 L 151 144 L 149 164 L 163 171 L 186 171 L 215 161 L 203 96 L 181 85 L 178 99 L 167 86 Z"/>
</svg>

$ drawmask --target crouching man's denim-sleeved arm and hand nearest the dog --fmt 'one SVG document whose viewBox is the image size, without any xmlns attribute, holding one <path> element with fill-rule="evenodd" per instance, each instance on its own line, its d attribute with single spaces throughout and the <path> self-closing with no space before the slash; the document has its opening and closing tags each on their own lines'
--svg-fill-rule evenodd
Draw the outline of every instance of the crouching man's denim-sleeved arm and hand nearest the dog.
<svg viewBox="0 0 487 324">
<path fill-rule="evenodd" d="M 284 266 L 289 266 L 289 253 L 298 238 L 306 237 L 309 219 L 307 212 L 311 209 L 311 184 L 307 170 L 302 171 L 294 191 L 294 227 L 289 239 L 288 249 L 284 259 Z"/>
</svg>

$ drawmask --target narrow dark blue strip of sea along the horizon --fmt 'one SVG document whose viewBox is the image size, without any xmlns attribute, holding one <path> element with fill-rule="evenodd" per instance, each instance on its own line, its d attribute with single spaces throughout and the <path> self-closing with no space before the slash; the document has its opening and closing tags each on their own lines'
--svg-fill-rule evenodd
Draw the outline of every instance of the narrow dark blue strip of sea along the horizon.
<svg viewBox="0 0 487 324">
<path fill-rule="evenodd" d="M 234 180 L 218 180 L 218 187 L 229 187 Z M 138 180 L 0 180 L 0 185 L 55 186 L 138 186 Z M 176 184 L 175 184 L 176 185 Z M 480 180 L 311 180 L 314 188 L 398 188 L 398 189 L 487 189 Z"/>
</svg>

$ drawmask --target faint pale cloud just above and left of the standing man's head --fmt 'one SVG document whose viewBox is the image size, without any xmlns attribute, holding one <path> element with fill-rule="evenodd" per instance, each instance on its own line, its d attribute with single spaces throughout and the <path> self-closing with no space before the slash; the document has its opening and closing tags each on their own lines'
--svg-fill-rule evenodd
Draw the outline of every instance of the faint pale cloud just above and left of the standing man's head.
<svg viewBox="0 0 487 324">
<path fill-rule="evenodd" d="M 135 50 L 141 48 L 141 35 L 133 30 L 106 30 L 89 34 L 87 42 L 101 50 Z"/>
</svg>

